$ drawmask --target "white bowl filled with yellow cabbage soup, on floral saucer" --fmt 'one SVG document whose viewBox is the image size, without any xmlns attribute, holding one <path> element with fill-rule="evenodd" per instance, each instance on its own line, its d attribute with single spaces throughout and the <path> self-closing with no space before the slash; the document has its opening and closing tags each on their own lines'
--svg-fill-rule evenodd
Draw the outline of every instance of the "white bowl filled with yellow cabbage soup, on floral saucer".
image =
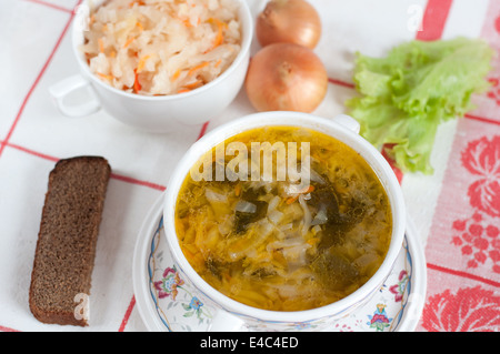
<svg viewBox="0 0 500 354">
<path fill-rule="evenodd" d="M 181 159 L 163 218 L 172 257 L 213 304 L 213 331 L 314 328 L 362 305 L 401 249 L 404 203 L 357 122 L 263 112 Z"/>
</svg>

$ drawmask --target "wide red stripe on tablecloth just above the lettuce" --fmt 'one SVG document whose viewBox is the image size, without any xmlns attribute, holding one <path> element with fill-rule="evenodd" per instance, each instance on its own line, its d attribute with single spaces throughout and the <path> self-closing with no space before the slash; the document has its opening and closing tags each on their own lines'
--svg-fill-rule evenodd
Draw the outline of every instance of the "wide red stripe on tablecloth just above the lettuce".
<svg viewBox="0 0 500 354">
<path fill-rule="evenodd" d="M 419 41 L 436 41 L 441 38 L 452 0 L 429 0 L 422 18 L 422 30 L 417 32 Z"/>
</svg>

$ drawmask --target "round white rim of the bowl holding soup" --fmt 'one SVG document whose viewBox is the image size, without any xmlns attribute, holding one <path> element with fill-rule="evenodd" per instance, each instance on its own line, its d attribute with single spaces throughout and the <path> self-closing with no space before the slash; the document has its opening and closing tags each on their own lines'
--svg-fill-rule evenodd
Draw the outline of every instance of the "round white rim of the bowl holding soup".
<svg viewBox="0 0 500 354">
<path fill-rule="evenodd" d="M 282 123 L 276 123 L 276 122 Z M 389 250 L 386 254 L 386 257 L 382 264 L 379 266 L 377 272 L 358 290 L 348 296 L 333 302 L 331 304 L 316 307 L 311 310 L 304 311 L 271 311 L 271 310 L 262 310 L 258 307 L 253 307 L 250 305 L 242 304 L 236 300 L 230 299 L 229 296 L 223 295 L 210 284 L 208 284 L 190 265 L 188 260 L 183 256 L 182 251 L 180 249 L 176 229 L 174 229 L 174 210 L 177 203 L 177 195 L 184 181 L 187 174 L 189 173 L 189 169 L 192 164 L 199 159 L 203 153 L 206 153 L 209 149 L 213 148 L 216 144 L 227 140 L 228 138 L 238 134 L 243 131 L 248 131 L 254 128 L 261 127 L 278 127 L 278 125 L 289 125 L 289 127 L 304 127 L 312 130 L 323 131 L 327 130 L 330 132 L 329 135 L 341 140 L 347 143 L 354 142 L 357 146 L 350 145 L 358 153 L 360 153 L 364 160 L 368 158 L 366 154 L 368 153 L 371 158 L 370 161 L 367 162 L 374 170 L 379 180 L 381 181 L 386 192 L 388 193 L 389 200 L 391 202 L 391 212 L 393 221 L 393 229 L 391 234 L 391 242 L 389 244 Z M 337 135 L 332 135 L 331 132 L 334 131 Z M 339 138 L 342 135 L 342 138 Z M 347 141 L 346 141 L 346 140 Z M 362 150 L 362 151 L 361 151 Z M 382 174 L 382 175 L 381 175 Z M 173 205 L 173 208 L 172 208 Z M 307 323 L 316 320 L 320 320 L 323 317 L 332 317 L 338 315 L 343 315 L 346 312 L 354 309 L 357 304 L 361 304 L 364 300 L 368 300 L 371 294 L 373 294 L 379 286 L 383 283 L 387 276 L 390 274 L 390 271 L 393 266 L 393 263 L 401 250 L 401 244 L 404 237 L 406 230 L 406 208 L 404 200 L 402 195 L 402 191 L 400 189 L 400 184 L 396 174 L 387 162 L 387 160 L 380 154 L 380 152 L 374 149 L 368 141 L 361 138 L 359 134 L 353 131 L 336 123 L 332 120 L 316 117 L 308 113 L 299 113 L 299 112 L 283 112 L 283 111 L 273 111 L 273 112 L 261 112 L 253 113 L 241 117 L 229 123 L 222 124 L 200 140 L 198 140 L 181 158 L 178 162 L 173 173 L 170 176 L 166 198 L 163 201 L 163 218 L 164 218 L 164 231 L 167 242 L 169 244 L 170 252 L 179 265 L 181 271 L 189 277 L 189 281 L 193 284 L 196 289 L 198 289 L 204 296 L 211 299 L 216 302 L 222 310 L 249 318 L 257 318 L 260 321 L 268 322 L 297 322 L 297 323 Z"/>
</svg>

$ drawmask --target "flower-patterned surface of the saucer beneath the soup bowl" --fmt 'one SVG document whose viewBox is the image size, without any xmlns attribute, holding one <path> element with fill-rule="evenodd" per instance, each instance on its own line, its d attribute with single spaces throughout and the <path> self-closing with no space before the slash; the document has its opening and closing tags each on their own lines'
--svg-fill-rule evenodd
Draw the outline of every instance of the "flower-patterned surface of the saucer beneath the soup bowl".
<svg viewBox="0 0 500 354">
<path fill-rule="evenodd" d="M 164 239 L 163 219 L 157 219 L 150 236 L 149 290 L 163 331 L 207 331 L 216 309 L 193 295 L 176 269 Z M 391 274 L 378 293 L 354 313 L 339 320 L 331 332 L 398 331 L 406 317 L 412 292 L 412 252 L 408 234 Z M 420 294 L 423 296 L 423 294 Z M 413 296 L 417 300 L 420 296 Z M 161 328 L 160 328 L 161 330 Z M 256 328 L 248 328 L 256 330 Z M 264 328 L 262 328 L 264 330 Z M 298 328 L 299 330 L 299 328 Z M 300 328 L 303 330 L 303 328 Z M 308 328 L 314 330 L 314 328 Z"/>
</svg>

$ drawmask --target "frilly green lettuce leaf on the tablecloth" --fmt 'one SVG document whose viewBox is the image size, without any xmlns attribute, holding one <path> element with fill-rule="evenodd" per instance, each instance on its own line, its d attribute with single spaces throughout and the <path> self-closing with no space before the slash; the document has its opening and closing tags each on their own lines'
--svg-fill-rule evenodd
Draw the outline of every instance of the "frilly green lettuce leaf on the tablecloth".
<svg viewBox="0 0 500 354">
<path fill-rule="evenodd" d="M 473 109 L 471 95 L 488 90 L 493 50 L 482 40 L 411 41 L 387 58 L 359 52 L 359 97 L 346 102 L 361 135 L 386 149 L 403 172 L 430 174 L 438 125 Z"/>
</svg>

